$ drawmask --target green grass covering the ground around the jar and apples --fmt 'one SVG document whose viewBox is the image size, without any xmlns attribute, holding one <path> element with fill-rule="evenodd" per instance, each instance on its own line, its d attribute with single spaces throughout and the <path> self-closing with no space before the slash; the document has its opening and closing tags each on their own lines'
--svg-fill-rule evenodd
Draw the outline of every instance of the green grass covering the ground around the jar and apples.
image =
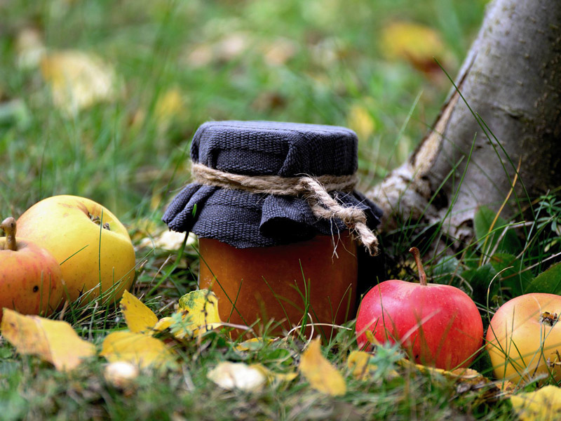
<svg viewBox="0 0 561 421">
<path fill-rule="evenodd" d="M 189 141 L 199 124 L 212 119 L 269 119 L 351 126 L 361 135 L 359 171 L 366 189 L 412 151 L 450 89 L 442 73 L 389 59 L 380 41 L 384 27 L 394 20 L 433 27 L 447 52 L 440 59 L 454 74 L 480 25 L 484 3 L 379 0 L 373 5 L 357 0 L 352 7 L 342 0 L 0 3 L 0 217 L 17 217 L 53 194 L 76 194 L 103 203 L 126 223 L 137 246 L 140 270 L 135 295 L 143 295 L 156 314 L 167 316 L 181 295 L 196 288 L 198 255 L 192 246 L 170 252 L 140 244 L 164 229 L 160 218 L 165 204 L 189 180 Z M 86 51 L 111 63 L 119 75 L 116 97 L 78 114 L 53 107 L 40 69 L 18 66 L 18 36 L 29 28 L 40 34 L 48 51 Z M 179 106 L 162 111 L 164 98 L 173 98 L 174 93 Z M 522 282 L 526 267 L 533 277 L 553 263 L 547 259 L 560 252 L 560 207 L 554 194 L 535 203 L 536 222 L 525 227 L 526 243 L 509 249 L 520 261 L 520 270 L 499 275 L 489 294 L 485 280 L 504 267 L 494 265 L 490 260 L 494 253 L 487 252 L 501 241 L 509 246 L 497 238 L 506 221 L 485 231 L 492 221 L 483 218 L 487 225 L 483 223 L 478 241 L 457 255 L 426 262 L 433 279 L 473 291 L 482 314 L 492 311 L 513 295 L 512 280 Z M 388 276 L 415 279 L 402 260 L 406 247 L 439 234 L 435 227 L 426 227 L 424 237 L 412 237 L 414 228 L 406 223 L 384 237 L 386 246 L 392 246 Z M 125 327 L 119 310 L 111 305 L 76 302 L 62 316 L 97 347 L 108 333 Z M 135 388 L 125 392 L 104 380 L 102 359 L 87 361 L 74 373 L 58 373 L 34 357 L 20 356 L 2 341 L 0 413 L 3 420 L 513 416 L 508 401 L 488 399 L 476 388 L 459 392 L 450 379 L 399 366 L 397 349 L 379 349 L 377 375 L 354 379 L 345 365 L 349 351 L 356 348 L 353 323 L 347 327 L 351 330 L 339 330 L 323 343 L 325 356 L 348 383 L 347 394 L 337 398 L 315 392 L 302 378 L 253 394 L 224 392 L 206 378 L 210 368 L 227 359 L 288 370 L 297 365 L 304 345 L 305 338 L 297 336 L 240 353 L 234 350 L 228 329 L 207 333 L 201 341 L 177 344 L 181 370 L 146 371 Z M 475 368 L 489 374 L 485 354 L 475 361 Z M 393 370 L 399 375 L 391 375 Z"/>
</svg>

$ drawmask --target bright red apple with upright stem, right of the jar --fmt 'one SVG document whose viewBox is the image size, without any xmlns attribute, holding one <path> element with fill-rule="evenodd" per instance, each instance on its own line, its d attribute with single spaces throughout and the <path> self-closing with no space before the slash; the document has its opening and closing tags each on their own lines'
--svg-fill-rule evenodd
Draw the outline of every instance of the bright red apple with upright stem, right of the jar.
<svg viewBox="0 0 561 421">
<path fill-rule="evenodd" d="M 482 347 L 483 323 L 469 296 L 450 285 L 426 283 L 419 250 L 410 249 L 420 283 L 392 279 L 363 298 L 356 319 L 358 346 L 374 340 L 400 344 L 410 359 L 437 368 L 467 367 Z"/>
</svg>

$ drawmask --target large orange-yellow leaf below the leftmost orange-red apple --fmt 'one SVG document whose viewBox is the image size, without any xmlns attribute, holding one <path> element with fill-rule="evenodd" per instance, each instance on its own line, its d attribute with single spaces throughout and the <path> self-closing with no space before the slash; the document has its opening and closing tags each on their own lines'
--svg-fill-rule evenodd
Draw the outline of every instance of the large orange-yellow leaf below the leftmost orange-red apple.
<svg viewBox="0 0 561 421">
<path fill-rule="evenodd" d="M 57 370 L 72 370 L 85 358 L 95 355 L 95 347 L 81 339 L 65 321 L 22 316 L 4 308 L 2 335 L 20 354 L 39 356 Z"/>
</svg>

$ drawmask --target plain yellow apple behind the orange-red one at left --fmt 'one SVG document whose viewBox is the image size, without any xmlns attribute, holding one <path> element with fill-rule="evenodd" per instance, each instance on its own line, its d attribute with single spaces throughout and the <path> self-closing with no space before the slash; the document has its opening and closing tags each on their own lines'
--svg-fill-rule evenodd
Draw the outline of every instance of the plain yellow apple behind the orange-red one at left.
<svg viewBox="0 0 561 421">
<path fill-rule="evenodd" d="M 46 248 L 62 268 L 67 298 L 119 300 L 135 278 L 135 250 L 126 228 L 99 203 L 52 196 L 18 219 L 20 234 Z"/>
</svg>

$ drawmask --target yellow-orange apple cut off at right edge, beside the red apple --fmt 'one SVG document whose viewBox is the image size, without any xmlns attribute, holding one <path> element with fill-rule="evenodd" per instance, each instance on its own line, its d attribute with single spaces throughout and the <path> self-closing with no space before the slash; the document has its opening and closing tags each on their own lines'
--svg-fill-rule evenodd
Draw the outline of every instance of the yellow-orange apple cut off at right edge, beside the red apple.
<svg viewBox="0 0 561 421">
<path fill-rule="evenodd" d="M 537 375 L 561 380 L 561 296 L 520 295 L 505 302 L 487 330 L 487 352 L 499 379 L 520 382 Z"/>
</svg>

